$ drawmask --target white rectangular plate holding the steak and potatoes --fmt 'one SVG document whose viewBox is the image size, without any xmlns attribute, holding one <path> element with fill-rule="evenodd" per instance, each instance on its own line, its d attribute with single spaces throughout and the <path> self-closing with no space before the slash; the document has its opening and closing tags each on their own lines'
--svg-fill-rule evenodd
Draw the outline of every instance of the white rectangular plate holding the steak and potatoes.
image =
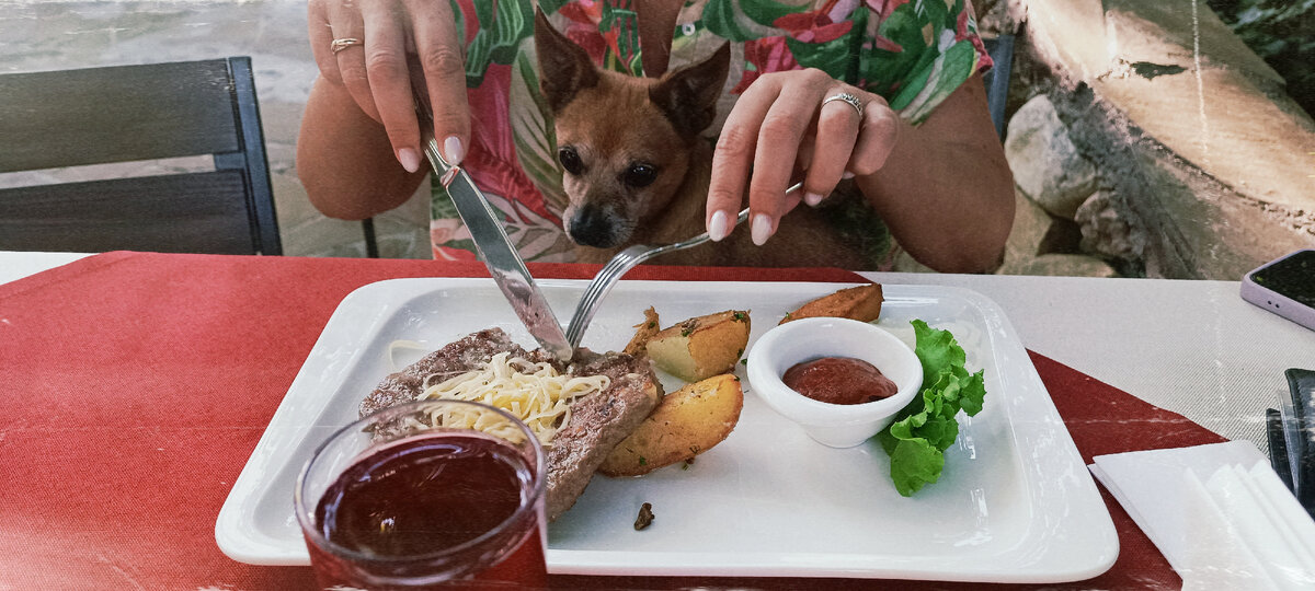
<svg viewBox="0 0 1315 591">
<path fill-rule="evenodd" d="M 563 318 L 585 285 L 540 281 Z M 655 306 L 664 326 L 751 310 L 752 348 L 788 310 L 846 286 L 623 281 L 584 345 L 622 348 L 643 310 Z M 1082 580 L 1107 570 L 1119 552 L 1114 524 L 999 306 L 956 288 L 886 285 L 884 292 L 878 326 L 910 345 L 911 319 L 947 328 L 967 351 L 969 369 L 986 370 L 986 406 L 977 416 L 960 415 L 940 482 L 899 496 L 874 440 L 852 449 L 814 443 L 746 382 L 735 431 L 688 468 L 596 477 L 548 528 L 548 570 L 1019 583 Z M 431 351 L 490 326 L 534 345 L 489 280 L 391 280 L 345 298 L 220 511 L 220 549 L 256 565 L 309 563 L 292 512 L 293 481 L 320 440 L 354 420 L 384 376 L 422 355 L 391 345 L 413 340 Z M 668 391 L 681 385 L 661 380 Z M 642 503 L 652 503 L 656 520 L 635 531 Z"/>
</svg>

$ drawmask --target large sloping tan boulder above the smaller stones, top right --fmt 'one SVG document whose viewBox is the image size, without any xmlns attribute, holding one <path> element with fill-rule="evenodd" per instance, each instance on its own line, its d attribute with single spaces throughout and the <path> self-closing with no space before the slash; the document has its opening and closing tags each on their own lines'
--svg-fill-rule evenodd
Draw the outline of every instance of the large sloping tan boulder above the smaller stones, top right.
<svg viewBox="0 0 1315 591">
<path fill-rule="evenodd" d="M 1236 281 L 1311 246 L 1315 121 L 1207 7 L 1019 1 L 1072 142 L 1141 229 L 1148 276 Z"/>
</svg>

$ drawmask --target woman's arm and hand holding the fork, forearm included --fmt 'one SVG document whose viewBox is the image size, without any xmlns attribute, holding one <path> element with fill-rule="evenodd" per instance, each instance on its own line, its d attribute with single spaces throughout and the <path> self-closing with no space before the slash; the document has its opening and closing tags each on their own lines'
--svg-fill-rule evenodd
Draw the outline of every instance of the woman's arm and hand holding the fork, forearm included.
<svg viewBox="0 0 1315 591">
<path fill-rule="evenodd" d="M 864 105 L 861 117 L 842 101 L 823 104 L 842 92 Z M 977 75 L 917 127 L 885 98 L 818 70 L 763 75 L 735 102 L 713 155 L 706 218 L 713 239 L 730 232 L 747 192 L 751 235 L 767 242 L 801 201 L 785 196 L 796 169 L 806 171 L 809 205 L 830 194 L 842 175 L 856 175 L 899 244 L 936 271 L 990 271 L 1003 255 L 1013 175 Z"/>
</svg>

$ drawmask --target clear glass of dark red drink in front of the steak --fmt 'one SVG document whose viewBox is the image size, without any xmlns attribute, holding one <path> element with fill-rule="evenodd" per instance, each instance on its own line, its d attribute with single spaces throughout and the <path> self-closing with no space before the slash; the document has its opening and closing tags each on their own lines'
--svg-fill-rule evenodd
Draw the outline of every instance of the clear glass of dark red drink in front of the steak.
<svg viewBox="0 0 1315 591">
<path fill-rule="evenodd" d="M 293 491 L 323 588 L 547 587 L 544 456 L 514 416 L 464 401 L 334 432 Z"/>
</svg>

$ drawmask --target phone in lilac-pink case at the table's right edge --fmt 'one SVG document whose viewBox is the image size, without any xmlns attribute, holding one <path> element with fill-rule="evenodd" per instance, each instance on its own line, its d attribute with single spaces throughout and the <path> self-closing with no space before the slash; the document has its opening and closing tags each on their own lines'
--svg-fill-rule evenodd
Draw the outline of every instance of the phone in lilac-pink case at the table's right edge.
<svg viewBox="0 0 1315 591">
<path fill-rule="evenodd" d="M 1247 273 L 1241 298 L 1315 330 L 1315 248 L 1303 248 Z"/>
</svg>

